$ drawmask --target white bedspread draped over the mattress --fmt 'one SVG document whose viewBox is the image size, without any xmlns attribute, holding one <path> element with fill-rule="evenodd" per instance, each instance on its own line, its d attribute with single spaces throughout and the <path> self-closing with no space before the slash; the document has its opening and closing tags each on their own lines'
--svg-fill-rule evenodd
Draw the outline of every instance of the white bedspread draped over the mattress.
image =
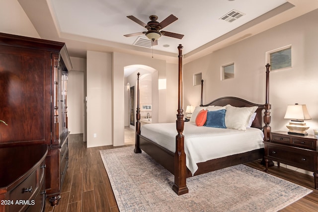
<svg viewBox="0 0 318 212">
<path fill-rule="evenodd" d="M 175 152 L 175 123 L 143 125 L 141 135 Z M 197 127 L 193 122 L 186 122 L 183 135 L 186 166 L 192 175 L 198 169 L 197 163 L 264 147 L 264 135 L 256 128 L 239 131 Z"/>
</svg>

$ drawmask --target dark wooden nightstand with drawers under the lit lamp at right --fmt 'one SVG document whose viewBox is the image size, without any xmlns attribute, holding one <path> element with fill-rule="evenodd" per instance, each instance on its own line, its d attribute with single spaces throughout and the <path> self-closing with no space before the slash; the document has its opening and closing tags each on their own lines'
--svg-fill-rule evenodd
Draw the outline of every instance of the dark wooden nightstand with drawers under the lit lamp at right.
<svg viewBox="0 0 318 212">
<path fill-rule="evenodd" d="M 318 189 L 318 140 L 313 135 L 296 136 L 287 132 L 270 133 L 270 141 L 265 144 L 265 166 L 269 160 L 285 163 L 314 172 L 315 189 Z"/>
</svg>

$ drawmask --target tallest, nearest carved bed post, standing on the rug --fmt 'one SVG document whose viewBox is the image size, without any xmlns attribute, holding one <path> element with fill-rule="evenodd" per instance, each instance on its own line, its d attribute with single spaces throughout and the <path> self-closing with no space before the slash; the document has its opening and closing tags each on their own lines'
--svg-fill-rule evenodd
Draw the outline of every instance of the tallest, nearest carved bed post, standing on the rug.
<svg viewBox="0 0 318 212">
<path fill-rule="evenodd" d="M 176 129 L 178 134 L 175 137 L 175 153 L 174 153 L 174 184 L 172 190 L 177 195 L 186 194 L 189 192 L 186 185 L 186 164 L 185 164 L 185 152 L 184 152 L 184 120 L 183 120 L 183 109 L 182 109 L 182 48 L 180 44 L 179 50 L 179 78 L 178 78 L 178 114 L 176 120 Z"/>
</svg>

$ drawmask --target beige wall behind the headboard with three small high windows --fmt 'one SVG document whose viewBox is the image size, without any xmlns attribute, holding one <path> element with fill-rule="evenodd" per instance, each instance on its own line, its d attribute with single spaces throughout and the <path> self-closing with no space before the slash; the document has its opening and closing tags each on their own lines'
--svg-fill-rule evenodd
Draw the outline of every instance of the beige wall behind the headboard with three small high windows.
<svg viewBox="0 0 318 212">
<path fill-rule="evenodd" d="M 281 24 L 239 43 L 218 50 L 184 66 L 185 104 L 200 104 L 200 86 L 193 86 L 193 74 L 202 71 L 204 104 L 221 96 L 237 96 L 265 102 L 266 52 L 292 45 L 292 68 L 270 72 L 272 131 L 287 131 L 284 119 L 288 104 L 306 104 L 313 134 L 318 128 L 318 10 Z M 221 80 L 221 67 L 235 63 L 235 78 Z"/>
</svg>

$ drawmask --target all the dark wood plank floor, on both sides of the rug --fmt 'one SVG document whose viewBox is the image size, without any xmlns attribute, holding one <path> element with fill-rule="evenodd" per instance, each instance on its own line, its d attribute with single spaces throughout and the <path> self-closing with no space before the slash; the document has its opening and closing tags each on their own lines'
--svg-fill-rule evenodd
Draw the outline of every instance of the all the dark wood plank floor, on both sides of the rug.
<svg viewBox="0 0 318 212">
<path fill-rule="evenodd" d="M 115 147 L 87 148 L 82 134 L 70 135 L 70 162 L 62 187 L 62 199 L 60 204 L 54 208 L 47 201 L 45 212 L 118 212 L 116 200 L 99 154 L 99 150 L 110 148 Z M 258 160 L 246 163 L 246 165 L 260 170 L 264 169 Z M 314 177 L 283 167 L 280 169 L 270 167 L 269 173 L 313 190 L 311 194 L 281 210 L 282 212 L 318 211 L 318 190 L 313 189 Z"/>
</svg>

